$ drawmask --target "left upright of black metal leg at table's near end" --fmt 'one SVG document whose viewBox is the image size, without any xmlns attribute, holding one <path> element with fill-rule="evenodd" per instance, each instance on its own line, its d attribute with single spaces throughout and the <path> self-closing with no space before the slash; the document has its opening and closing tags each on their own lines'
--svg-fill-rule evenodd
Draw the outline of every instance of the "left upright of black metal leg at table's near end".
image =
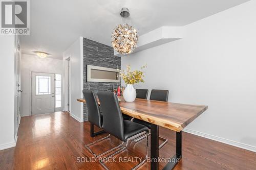
<svg viewBox="0 0 256 170">
<path fill-rule="evenodd" d="M 151 124 L 151 170 L 158 170 L 159 156 L 159 128 L 157 125 Z"/>
</svg>

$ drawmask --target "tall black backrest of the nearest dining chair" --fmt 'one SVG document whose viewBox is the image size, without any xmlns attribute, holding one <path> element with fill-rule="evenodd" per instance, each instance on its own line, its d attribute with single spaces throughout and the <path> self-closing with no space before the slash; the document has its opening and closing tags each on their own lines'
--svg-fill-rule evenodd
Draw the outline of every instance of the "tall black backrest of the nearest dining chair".
<svg viewBox="0 0 256 170">
<path fill-rule="evenodd" d="M 98 91 L 98 98 L 103 113 L 103 130 L 125 141 L 123 117 L 116 94 L 109 91 Z"/>
</svg>

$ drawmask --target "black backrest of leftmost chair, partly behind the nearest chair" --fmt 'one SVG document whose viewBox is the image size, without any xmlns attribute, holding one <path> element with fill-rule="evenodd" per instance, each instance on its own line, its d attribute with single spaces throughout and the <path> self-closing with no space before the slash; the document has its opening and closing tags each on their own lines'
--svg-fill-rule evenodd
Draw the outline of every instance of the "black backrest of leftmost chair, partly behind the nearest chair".
<svg viewBox="0 0 256 170">
<path fill-rule="evenodd" d="M 88 120 L 90 123 L 102 128 L 99 104 L 92 90 L 82 90 L 88 110 Z"/>
</svg>

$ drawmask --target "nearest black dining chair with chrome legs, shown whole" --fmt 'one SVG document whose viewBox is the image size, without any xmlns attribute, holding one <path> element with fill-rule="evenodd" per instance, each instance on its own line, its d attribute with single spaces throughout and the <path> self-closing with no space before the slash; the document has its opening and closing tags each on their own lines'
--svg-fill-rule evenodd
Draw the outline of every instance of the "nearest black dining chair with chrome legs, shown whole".
<svg viewBox="0 0 256 170">
<path fill-rule="evenodd" d="M 141 161 L 138 165 L 136 165 L 133 169 L 138 168 L 147 160 L 148 128 L 146 126 L 131 122 L 129 120 L 123 120 L 117 96 L 113 92 L 99 91 L 98 98 L 103 113 L 104 131 L 121 140 L 121 144 L 124 145 L 122 149 L 119 149 L 118 151 L 108 157 L 105 157 L 104 159 L 108 160 L 109 158 L 112 158 L 118 153 L 124 151 L 127 148 L 129 141 L 133 140 L 138 136 L 141 136 L 141 134 L 143 133 L 143 135 L 146 136 L 146 156 L 145 159 Z M 102 159 L 99 160 L 99 162 L 105 169 L 108 169 Z"/>
</svg>

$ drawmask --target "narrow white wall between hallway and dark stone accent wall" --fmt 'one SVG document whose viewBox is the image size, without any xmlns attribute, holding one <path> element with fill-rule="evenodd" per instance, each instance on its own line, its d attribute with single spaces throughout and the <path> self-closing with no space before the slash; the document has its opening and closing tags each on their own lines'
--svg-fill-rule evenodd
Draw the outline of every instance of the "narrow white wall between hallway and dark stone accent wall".
<svg viewBox="0 0 256 170">
<path fill-rule="evenodd" d="M 70 47 L 63 52 L 63 89 L 65 95 L 65 110 L 67 110 L 68 104 L 68 87 L 67 78 L 68 71 L 67 59 L 70 58 L 70 115 L 74 117 L 78 122 L 83 122 L 83 104 L 77 102 L 77 99 L 83 98 L 83 38 L 79 37 Z"/>
</svg>

